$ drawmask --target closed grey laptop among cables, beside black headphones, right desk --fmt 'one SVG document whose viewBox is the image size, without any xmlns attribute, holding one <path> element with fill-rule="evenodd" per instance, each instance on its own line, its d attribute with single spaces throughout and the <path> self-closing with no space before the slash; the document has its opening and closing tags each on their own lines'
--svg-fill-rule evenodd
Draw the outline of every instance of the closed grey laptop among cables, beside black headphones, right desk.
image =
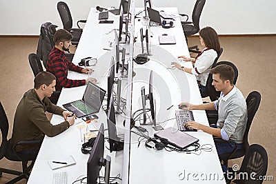
<svg viewBox="0 0 276 184">
<path fill-rule="evenodd" d="M 185 132 L 180 132 L 174 127 L 167 127 L 155 133 L 155 137 L 168 139 L 168 143 L 172 146 L 177 147 L 180 150 L 184 150 L 186 147 L 197 143 L 199 139 L 186 134 Z"/>
</svg>

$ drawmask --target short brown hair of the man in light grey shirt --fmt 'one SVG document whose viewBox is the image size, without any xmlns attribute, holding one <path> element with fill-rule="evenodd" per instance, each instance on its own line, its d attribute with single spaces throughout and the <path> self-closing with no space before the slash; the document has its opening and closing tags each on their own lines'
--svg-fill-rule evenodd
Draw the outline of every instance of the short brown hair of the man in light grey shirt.
<svg viewBox="0 0 276 184">
<path fill-rule="evenodd" d="M 230 65 L 222 64 L 217 65 L 215 68 L 210 70 L 211 74 L 219 74 L 219 79 L 222 81 L 229 80 L 230 84 L 233 85 L 235 72 Z"/>
</svg>

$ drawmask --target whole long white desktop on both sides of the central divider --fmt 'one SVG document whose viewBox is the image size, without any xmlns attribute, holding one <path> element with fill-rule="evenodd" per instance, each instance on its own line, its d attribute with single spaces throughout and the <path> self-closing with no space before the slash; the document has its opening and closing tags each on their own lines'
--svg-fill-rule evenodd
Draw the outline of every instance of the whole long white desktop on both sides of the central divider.
<svg viewBox="0 0 276 184">
<path fill-rule="evenodd" d="M 177 12 L 176 8 L 162 9 L 168 12 Z M 93 67 L 95 69 L 94 76 L 99 80 L 99 85 L 101 88 L 106 89 L 106 72 L 108 71 L 108 67 L 110 65 L 110 57 L 115 52 L 108 52 L 107 50 L 103 50 L 103 48 L 109 47 L 108 41 L 113 41 L 114 39 L 113 32 L 110 34 L 104 33 L 108 33 L 110 30 L 119 27 L 119 17 L 110 14 L 110 19 L 114 20 L 114 23 L 98 24 L 98 20 L 95 19 L 95 16 L 97 16 L 97 13 L 95 13 L 95 8 L 92 8 L 88 16 L 86 27 L 83 29 L 83 34 L 73 62 L 77 64 L 84 57 L 96 57 L 98 59 L 98 64 L 97 66 Z M 160 54 L 155 54 L 155 48 L 152 48 L 153 56 L 150 57 L 150 62 L 146 63 L 145 65 L 137 65 L 134 63 L 134 70 L 137 72 L 137 75 L 133 78 L 134 83 L 132 91 L 132 109 L 135 110 L 135 108 L 139 108 L 141 85 L 145 85 L 144 82 L 139 81 L 148 81 L 148 74 L 150 71 L 149 69 L 153 69 L 155 71 L 153 79 L 154 85 L 157 83 L 155 89 L 158 94 L 160 94 L 159 99 L 156 98 L 157 95 L 155 95 L 155 98 L 162 102 L 158 103 L 157 101 L 157 107 L 159 107 L 157 108 L 157 121 L 161 121 L 161 119 L 168 119 L 168 117 L 174 117 L 174 110 L 177 109 L 177 105 L 181 101 L 201 103 L 195 76 L 191 74 L 185 74 L 180 70 L 166 69 L 166 65 L 168 65 L 173 59 L 176 59 L 175 57 L 179 55 L 189 55 L 184 33 L 182 31 L 179 20 L 177 21 L 178 22 L 175 23 L 175 28 L 164 30 L 161 28 L 152 27 L 151 29 L 152 33 L 154 33 L 152 37 L 152 43 L 157 43 L 157 36 L 161 34 L 167 33 L 175 35 L 177 39 L 176 45 L 163 45 L 160 47 L 164 50 L 167 50 L 171 54 L 166 54 L 166 56 L 164 56 L 163 52 L 160 52 Z M 136 26 L 139 28 L 138 24 Z M 160 56 L 161 59 L 159 58 Z M 187 62 L 184 63 L 184 65 L 191 66 L 191 63 Z M 70 79 L 86 79 L 87 76 L 86 74 L 70 72 L 68 77 Z M 164 92 L 161 92 L 161 85 L 158 85 L 158 81 L 160 83 L 166 83 L 166 86 L 170 86 L 170 88 L 166 88 Z M 181 82 L 179 83 L 177 81 Z M 187 86 L 189 86 L 189 88 L 187 88 Z M 77 88 L 63 89 L 61 96 L 59 97 L 58 105 L 68 103 L 76 99 L 81 99 L 85 88 L 85 86 L 82 86 Z M 165 94 L 167 94 L 167 97 L 170 97 L 169 101 L 164 101 Z M 165 112 L 164 107 L 168 108 L 172 104 L 175 106 L 171 108 L 169 112 Z M 204 123 L 206 125 L 208 124 L 205 112 L 194 111 L 194 115 L 195 121 Z M 57 124 L 60 121 L 63 121 L 63 118 L 61 116 L 54 115 L 51 122 L 53 124 Z M 105 127 L 107 127 L 106 115 L 102 111 L 99 113 L 99 121 L 98 123 L 95 123 L 95 127 L 99 127 L 101 122 L 105 123 Z M 174 123 L 175 121 L 168 121 L 166 124 L 162 124 L 162 126 L 171 126 Z M 150 128 L 148 129 L 151 130 Z M 179 174 L 183 172 L 184 169 L 186 174 L 187 172 L 190 172 L 191 174 L 217 173 L 219 176 L 222 176 L 221 167 L 212 136 L 204 132 L 191 132 L 189 134 L 196 136 L 199 139 L 199 143 L 201 145 L 204 143 L 210 143 L 213 145 L 213 152 L 201 152 L 199 156 L 195 154 L 179 154 L 176 152 L 157 152 L 155 150 L 148 150 L 146 147 L 144 147 L 143 143 L 137 147 L 137 136 L 132 136 L 132 142 L 130 143 L 129 183 L 180 183 L 183 181 L 179 180 Z M 124 154 L 126 153 L 128 152 L 124 151 Z M 58 136 L 52 138 L 48 136 L 45 137 L 41 145 L 41 150 L 37 156 L 37 161 L 34 163 L 34 167 L 28 183 L 51 183 L 53 171 L 50 169 L 47 161 L 49 159 L 55 158 L 55 156 L 59 157 L 67 154 L 72 154 L 72 156 L 76 159 L 77 164 L 70 167 L 64 167 L 60 170 L 57 170 L 57 172 L 67 171 L 68 183 L 72 183 L 79 176 L 86 175 L 86 165 L 89 156 L 81 153 L 81 136 L 76 125 L 73 125 Z M 111 176 L 116 176 L 119 173 L 122 174 L 122 167 L 124 164 L 123 152 L 113 152 L 110 154 L 108 150 L 105 150 L 105 154 L 109 154 L 112 158 Z M 128 170 L 125 172 L 128 173 Z M 123 183 L 128 183 L 128 177 L 122 177 L 124 179 Z M 189 182 L 193 182 L 193 180 L 191 181 L 190 179 L 191 177 L 192 176 L 189 176 Z M 184 178 L 184 181 L 185 180 L 186 178 Z M 201 183 L 203 181 L 199 178 L 199 181 L 195 182 Z M 224 180 L 205 182 L 225 183 Z"/>
</svg>

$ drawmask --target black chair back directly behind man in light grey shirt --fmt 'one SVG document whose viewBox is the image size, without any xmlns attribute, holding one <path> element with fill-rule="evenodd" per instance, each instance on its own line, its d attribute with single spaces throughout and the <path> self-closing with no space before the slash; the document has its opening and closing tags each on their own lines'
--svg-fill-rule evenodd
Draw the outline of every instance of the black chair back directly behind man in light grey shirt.
<svg viewBox="0 0 276 184">
<path fill-rule="evenodd" d="M 253 118 L 259 108 L 259 103 L 261 102 L 261 94 L 257 91 L 250 92 L 246 98 L 246 106 L 247 106 L 247 123 L 246 123 L 246 131 L 244 132 L 244 145 L 243 149 L 248 150 L 248 132 L 250 126 L 252 124 Z"/>
</svg>

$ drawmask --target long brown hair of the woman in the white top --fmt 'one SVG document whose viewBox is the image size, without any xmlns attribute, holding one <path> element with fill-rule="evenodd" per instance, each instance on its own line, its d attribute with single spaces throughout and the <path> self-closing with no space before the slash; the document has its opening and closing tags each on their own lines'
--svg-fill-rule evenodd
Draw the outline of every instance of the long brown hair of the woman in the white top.
<svg viewBox="0 0 276 184">
<path fill-rule="evenodd" d="M 211 48 L 217 51 L 217 54 L 220 52 L 220 43 L 219 43 L 219 36 L 217 32 L 211 28 L 206 27 L 199 30 L 199 36 L 203 39 L 206 48 Z"/>
</svg>

